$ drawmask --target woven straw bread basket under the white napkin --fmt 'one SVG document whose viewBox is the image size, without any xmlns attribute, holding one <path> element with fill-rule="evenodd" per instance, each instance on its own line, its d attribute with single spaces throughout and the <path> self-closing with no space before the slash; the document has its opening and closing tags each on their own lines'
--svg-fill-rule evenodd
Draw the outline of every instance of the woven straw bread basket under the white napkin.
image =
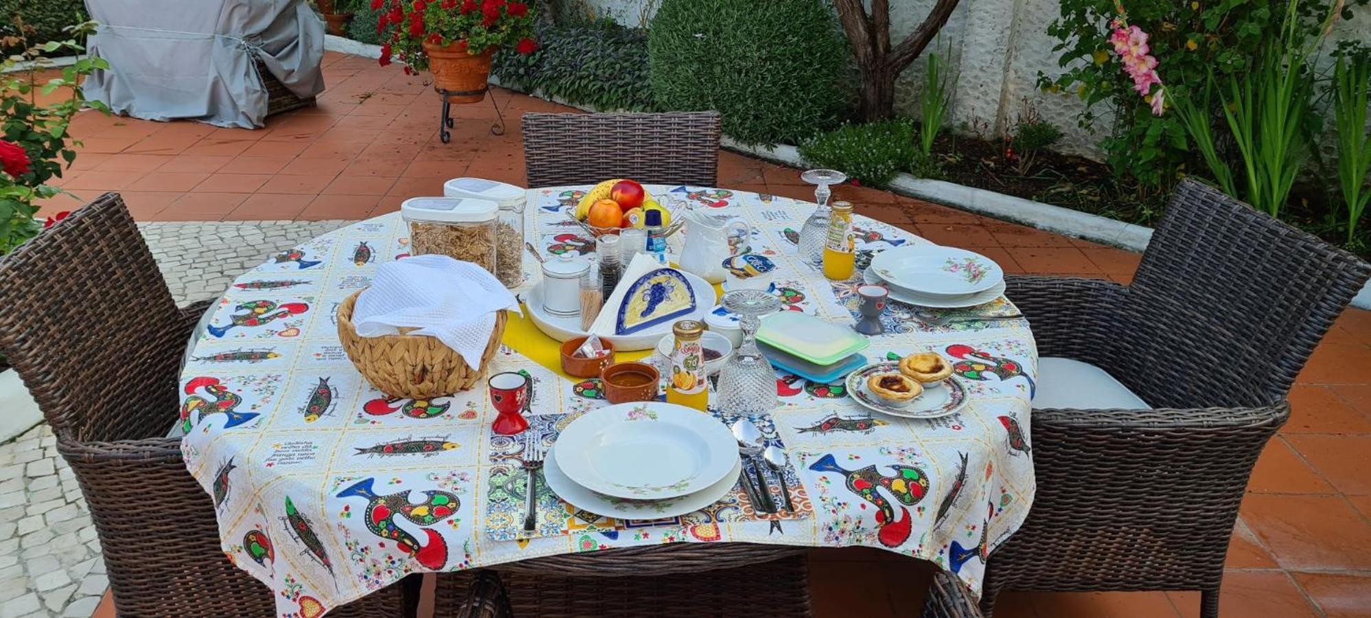
<svg viewBox="0 0 1371 618">
<path fill-rule="evenodd" d="M 436 337 L 426 334 L 391 334 L 362 337 L 352 326 L 354 292 L 339 306 L 339 340 L 343 349 L 373 386 L 391 397 L 433 399 L 472 388 L 485 373 L 485 366 L 505 336 L 506 311 L 495 315 L 495 332 L 481 354 L 481 366 L 472 369 L 462 355 Z M 414 329 L 400 329 L 402 333 Z"/>
</svg>

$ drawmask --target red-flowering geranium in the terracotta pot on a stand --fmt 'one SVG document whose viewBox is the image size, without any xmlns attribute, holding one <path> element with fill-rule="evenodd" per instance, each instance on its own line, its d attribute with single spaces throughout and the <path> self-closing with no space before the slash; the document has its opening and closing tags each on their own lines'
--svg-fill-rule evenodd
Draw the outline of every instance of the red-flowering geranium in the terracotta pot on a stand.
<svg viewBox="0 0 1371 618">
<path fill-rule="evenodd" d="M 533 11 L 522 1 L 507 0 L 372 0 L 381 11 L 377 27 L 389 27 L 391 38 L 381 44 L 381 66 L 392 53 L 406 73 L 428 69 L 424 44 L 457 45 L 476 56 L 513 47 L 533 53 Z"/>
</svg>

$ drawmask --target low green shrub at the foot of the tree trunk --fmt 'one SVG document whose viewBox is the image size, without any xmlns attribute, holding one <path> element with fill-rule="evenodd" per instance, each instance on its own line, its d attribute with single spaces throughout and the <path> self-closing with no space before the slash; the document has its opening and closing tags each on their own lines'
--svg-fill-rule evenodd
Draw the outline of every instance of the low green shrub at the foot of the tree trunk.
<svg viewBox="0 0 1371 618">
<path fill-rule="evenodd" d="M 818 167 L 831 167 L 864 185 L 886 186 L 895 174 L 914 169 L 919 147 L 914 123 L 882 121 L 847 125 L 799 145 L 799 155 Z M 927 173 L 927 163 L 920 170 Z"/>
</svg>

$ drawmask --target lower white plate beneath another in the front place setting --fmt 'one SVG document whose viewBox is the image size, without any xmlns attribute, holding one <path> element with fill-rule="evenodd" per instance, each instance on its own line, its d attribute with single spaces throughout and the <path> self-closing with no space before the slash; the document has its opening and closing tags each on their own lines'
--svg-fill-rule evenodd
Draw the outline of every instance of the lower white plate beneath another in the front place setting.
<svg viewBox="0 0 1371 618">
<path fill-rule="evenodd" d="M 566 500 L 568 504 L 576 508 L 621 519 L 659 519 L 698 511 L 733 491 L 733 486 L 738 485 L 738 474 L 743 471 L 742 459 L 735 458 L 733 467 L 728 474 L 724 474 L 724 478 L 695 493 L 668 497 L 665 500 L 614 497 L 595 493 L 572 481 L 558 465 L 558 444 L 554 444 L 543 459 L 543 480 L 547 481 L 547 486 L 553 489 L 553 493 L 557 493 L 557 497 Z"/>
</svg>

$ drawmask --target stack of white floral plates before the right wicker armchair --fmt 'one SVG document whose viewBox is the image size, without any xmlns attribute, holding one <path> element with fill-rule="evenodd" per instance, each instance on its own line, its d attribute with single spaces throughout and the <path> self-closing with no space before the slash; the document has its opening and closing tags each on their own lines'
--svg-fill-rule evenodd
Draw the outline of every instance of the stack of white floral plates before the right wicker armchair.
<svg viewBox="0 0 1371 618">
<path fill-rule="evenodd" d="M 872 258 L 864 278 L 887 286 L 891 299 L 920 307 L 975 307 L 1005 293 L 999 264 L 956 247 L 888 248 Z"/>
</svg>

